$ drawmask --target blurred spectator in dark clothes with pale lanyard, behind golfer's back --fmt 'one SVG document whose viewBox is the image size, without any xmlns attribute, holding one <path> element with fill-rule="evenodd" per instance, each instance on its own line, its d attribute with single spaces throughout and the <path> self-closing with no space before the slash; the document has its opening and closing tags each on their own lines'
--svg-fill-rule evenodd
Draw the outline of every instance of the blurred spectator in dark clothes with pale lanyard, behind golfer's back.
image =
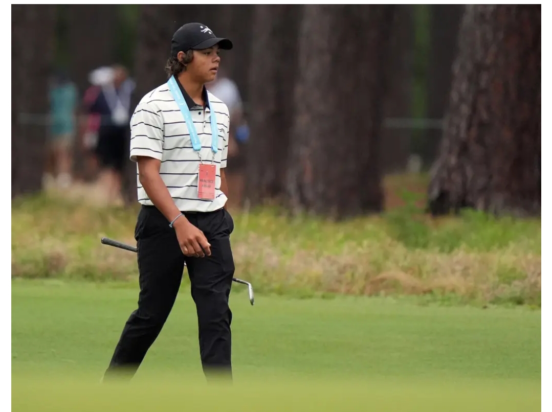
<svg viewBox="0 0 552 412">
<path fill-rule="evenodd" d="M 88 110 L 100 119 L 95 145 L 100 168 L 98 183 L 105 190 L 108 202 L 121 202 L 121 180 L 129 145 L 130 101 L 135 84 L 123 66 L 100 68 L 93 72 L 91 82 L 97 84 L 93 89 L 97 95 Z M 94 121 L 89 124 L 89 132 L 97 127 Z"/>
</svg>

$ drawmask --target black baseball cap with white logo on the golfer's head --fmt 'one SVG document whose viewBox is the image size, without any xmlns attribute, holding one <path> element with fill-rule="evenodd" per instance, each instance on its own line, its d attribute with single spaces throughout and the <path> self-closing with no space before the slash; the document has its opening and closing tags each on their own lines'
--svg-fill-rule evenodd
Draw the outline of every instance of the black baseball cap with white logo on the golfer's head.
<svg viewBox="0 0 552 412">
<path fill-rule="evenodd" d="M 230 40 L 216 37 L 205 24 L 187 23 L 173 34 L 171 54 L 176 57 L 180 51 L 209 49 L 215 44 L 222 50 L 230 50 L 233 46 Z"/>
</svg>

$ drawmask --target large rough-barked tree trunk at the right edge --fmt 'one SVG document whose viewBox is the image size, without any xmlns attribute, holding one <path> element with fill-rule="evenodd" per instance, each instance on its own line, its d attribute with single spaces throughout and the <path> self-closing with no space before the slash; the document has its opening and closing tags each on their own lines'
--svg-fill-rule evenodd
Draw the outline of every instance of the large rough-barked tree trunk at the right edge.
<svg viewBox="0 0 552 412">
<path fill-rule="evenodd" d="M 540 213 L 540 6 L 466 6 L 433 214 Z"/>
</svg>

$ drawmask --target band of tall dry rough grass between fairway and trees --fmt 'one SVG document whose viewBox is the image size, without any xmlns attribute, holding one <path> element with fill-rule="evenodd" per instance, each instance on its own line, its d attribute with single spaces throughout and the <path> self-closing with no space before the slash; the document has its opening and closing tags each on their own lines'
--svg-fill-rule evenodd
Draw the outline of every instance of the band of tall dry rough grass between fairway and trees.
<svg viewBox="0 0 552 412">
<path fill-rule="evenodd" d="M 431 220 L 412 204 L 335 223 L 233 213 L 236 275 L 258 292 L 422 295 L 540 306 L 540 221 L 480 213 Z M 12 205 L 12 277 L 137 278 L 136 210 L 41 198 Z M 185 279 L 185 278 L 184 278 Z M 186 280 L 184 280 L 186 281 Z"/>
</svg>

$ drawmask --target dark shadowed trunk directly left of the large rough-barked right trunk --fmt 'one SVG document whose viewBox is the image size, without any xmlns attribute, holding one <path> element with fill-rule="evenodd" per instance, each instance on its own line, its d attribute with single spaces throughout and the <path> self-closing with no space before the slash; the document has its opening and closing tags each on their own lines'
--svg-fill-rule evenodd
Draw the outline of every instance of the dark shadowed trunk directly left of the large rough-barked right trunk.
<svg viewBox="0 0 552 412">
<path fill-rule="evenodd" d="M 427 65 L 427 117 L 443 119 L 450 96 L 452 65 L 458 50 L 458 29 L 464 6 L 460 4 L 432 4 L 429 31 L 429 62 Z M 427 143 L 421 152 L 424 164 L 436 158 L 442 129 L 428 129 Z"/>
</svg>

